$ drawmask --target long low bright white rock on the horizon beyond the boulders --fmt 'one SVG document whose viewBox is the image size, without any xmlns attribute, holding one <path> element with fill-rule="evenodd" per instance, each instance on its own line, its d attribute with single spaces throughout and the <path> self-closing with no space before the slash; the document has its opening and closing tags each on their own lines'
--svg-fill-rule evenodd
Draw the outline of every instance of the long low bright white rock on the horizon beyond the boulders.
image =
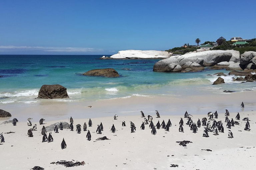
<svg viewBox="0 0 256 170">
<path fill-rule="evenodd" d="M 117 54 L 111 55 L 113 59 L 154 59 L 154 58 L 169 58 L 173 53 L 167 51 L 156 50 L 123 50 Z"/>
</svg>

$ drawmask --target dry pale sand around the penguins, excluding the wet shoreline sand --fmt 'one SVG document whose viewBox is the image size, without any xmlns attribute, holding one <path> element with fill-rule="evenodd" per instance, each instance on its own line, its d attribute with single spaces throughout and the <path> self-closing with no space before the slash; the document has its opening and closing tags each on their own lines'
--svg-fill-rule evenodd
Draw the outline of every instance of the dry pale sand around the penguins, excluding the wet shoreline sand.
<svg viewBox="0 0 256 170">
<path fill-rule="evenodd" d="M 53 109 L 54 106 L 49 106 Z M 74 108 L 73 108 L 74 109 Z M 189 110 L 188 110 L 189 112 Z M 147 112 L 144 112 L 147 115 Z M 182 115 L 161 115 L 161 118 L 153 116 L 153 123 L 168 119 L 172 122 L 170 131 L 157 129 L 157 134 L 151 134 L 149 125 L 145 125 L 145 130 L 141 130 L 143 118 L 140 112 L 136 116 L 119 115 L 117 120 L 113 117 L 93 118 L 92 127 L 88 127 L 89 119 L 74 119 L 74 125 L 87 123 L 88 130 L 92 135 L 92 140 L 86 140 L 87 131 L 81 134 L 69 129 L 59 130 L 59 133 L 52 132 L 53 142 L 42 143 L 41 128 L 38 120 L 33 118 L 32 124 L 37 124 L 37 131 L 33 131 L 34 137 L 28 137 L 27 122 L 19 121 L 17 126 L 12 124 L 0 125 L 1 132 L 14 131 L 15 133 L 3 134 L 5 142 L 0 145 L 1 169 L 30 169 L 40 166 L 47 169 L 65 169 L 62 165 L 50 164 L 60 160 L 84 161 L 84 166 L 71 167 L 67 169 L 252 169 L 255 167 L 255 112 L 241 111 L 240 116 L 250 118 L 251 131 L 245 131 L 245 121 L 238 121 L 240 125 L 235 125 L 231 130 L 234 138 L 228 138 L 228 128 L 224 123 L 224 113 L 219 113 L 217 121 L 224 123 L 224 133 L 215 136 L 209 132 L 210 137 L 203 137 L 203 127 L 198 128 L 197 133 L 193 133 L 188 125 L 187 119 Z M 191 114 L 189 112 L 189 114 Z M 37 117 L 37 116 L 35 116 Z M 180 117 L 184 120 L 184 133 L 179 132 Z M 205 115 L 194 115 L 194 122 L 201 120 Z M 230 119 L 235 120 L 236 113 L 230 113 Z M 89 118 L 89 117 L 88 117 Z M 209 117 L 207 117 L 208 119 Z M 67 119 L 58 121 L 69 122 Z M 122 127 L 122 121 L 126 122 L 126 127 Z M 130 132 L 130 123 L 136 125 L 136 132 Z M 0 123 L 3 122 L 0 121 Z M 57 121 L 45 121 L 45 126 L 49 126 Z M 96 134 L 97 125 L 102 122 L 104 130 L 102 134 Z M 112 124 L 115 125 L 116 132 L 110 132 Z M 241 131 L 239 131 L 241 130 Z M 48 133 L 47 133 L 48 135 Z M 107 136 L 110 140 L 95 141 L 96 138 Z M 65 138 L 67 148 L 61 149 L 62 138 Z M 187 147 L 179 146 L 176 141 L 190 140 L 193 143 Z M 206 151 L 201 149 L 211 149 Z M 168 156 L 169 155 L 169 156 Z M 178 164 L 179 167 L 170 167 L 171 164 Z"/>
</svg>

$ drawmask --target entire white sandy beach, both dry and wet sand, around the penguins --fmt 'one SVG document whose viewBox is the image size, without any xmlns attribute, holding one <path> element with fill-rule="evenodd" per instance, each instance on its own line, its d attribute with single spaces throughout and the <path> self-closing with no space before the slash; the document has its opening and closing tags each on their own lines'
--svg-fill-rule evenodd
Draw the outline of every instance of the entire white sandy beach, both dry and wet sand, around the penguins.
<svg viewBox="0 0 256 170">
<path fill-rule="evenodd" d="M 253 94 L 253 92 L 223 94 L 220 98 L 216 98 L 216 96 L 214 98 L 201 96 L 196 100 L 191 100 L 191 97 L 188 97 L 186 100 L 180 98 L 180 101 L 178 99 L 173 101 L 173 104 L 170 104 L 169 108 L 166 107 L 161 111 L 160 106 L 166 105 L 168 102 L 171 103 L 170 101 L 166 101 L 164 97 L 159 97 L 157 100 L 142 97 L 135 97 L 133 100 L 131 98 L 117 99 L 118 103 L 115 102 L 116 100 L 106 100 L 85 103 L 83 106 L 80 103 L 73 103 L 71 105 L 62 103 L 60 105 L 43 105 L 38 108 L 27 106 L 19 109 L 14 107 L 12 112 L 20 111 L 25 114 L 22 116 L 20 114 L 13 114 L 12 118 L 9 119 L 1 118 L 1 123 L 14 117 L 20 120 L 17 126 L 12 126 L 12 124 L 0 125 L 1 132 L 15 132 L 3 134 L 5 142 L 0 145 L 1 155 L 3 155 L 1 158 L 1 167 L 4 167 L 4 169 L 30 169 L 34 166 L 40 166 L 45 169 L 63 169 L 65 167 L 62 165 L 50 163 L 60 160 L 75 160 L 84 161 L 86 164 L 69 169 L 156 168 L 202 170 L 216 169 L 216 166 L 221 169 L 251 169 L 256 165 L 254 161 L 256 153 L 256 136 L 254 134 L 256 116 L 255 111 L 253 111 L 255 105 L 249 102 L 253 98 Z M 188 125 L 185 125 L 187 119 L 184 118 L 187 107 L 193 110 L 192 106 L 197 105 L 198 110 L 204 110 L 203 104 L 209 103 L 207 98 L 212 99 L 212 108 L 206 108 L 206 110 L 217 110 L 219 118 L 216 120 L 222 120 L 224 126 L 224 133 L 220 132 L 219 135 L 215 136 L 212 132 L 209 132 L 210 137 L 208 138 L 202 135 L 203 127 L 198 128 L 197 133 L 193 133 Z M 239 106 L 241 104 L 241 98 L 244 98 L 244 109 L 241 109 Z M 178 105 L 182 101 L 184 101 L 184 108 L 180 108 L 181 105 Z M 227 105 L 224 101 L 227 101 Z M 220 103 L 222 103 L 221 106 L 219 106 Z M 233 105 L 230 105 L 230 103 L 233 103 Z M 92 108 L 88 108 L 87 104 L 90 104 Z M 143 118 L 141 118 L 138 105 L 141 106 L 141 110 L 143 110 L 145 116 L 153 116 L 154 125 L 156 125 L 158 120 L 161 124 L 162 120 L 167 123 L 168 119 L 170 119 L 172 122 L 170 131 L 167 132 L 164 129 L 157 129 L 157 134 L 153 135 L 151 134 L 149 125 L 145 125 L 145 130 L 141 130 L 140 126 Z M 66 107 L 69 107 L 68 112 L 65 112 Z M 222 107 L 228 110 L 233 110 L 234 108 L 237 110 L 236 112 L 230 112 L 229 119 L 233 118 L 235 121 L 237 112 L 241 116 L 241 120 L 238 121 L 240 125 L 235 125 L 235 127 L 231 128 L 234 134 L 234 138 L 232 139 L 228 138 L 228 128 L 226 128 L 226 123 L 224 122 L 225 109 L 215 109 Z M 80 112 L 81 109 L 84 110 L 84 115 L 80 113 L 76 116 L 76 111 Z M 156 118 L 154 112 L 156 109 L 158 109 L 161 118 Z M 169 114 L 167 110 L 170 111 L 171 109 L 177 112 L 169 112 Z M 180 109 L 184 109 L 183 112 L 178 112 Z M 72 111 L 72 114 L 70 111 Z M 104 114 L 106 113 L 105 116 L 107 117 L 101 113 L 96 113 L 100 111 Z M 124 113 L 120 111 L 124 111 Z M 45 112 L 45 114 L 42 115 L 42 112 Z M 61 114 L 61 112 L 63 113 Z M 209 118 L 207 117 L 208 112 L 204 115 L 198 115 L 196 112 L 188 109 L 188 113 L 194 116 L 194 122 L 197 122 L 198 118 L 200 120 L 203 117 Z M 113 119 L 115 114 L 118 114 L 117 120 Z M 46 124 L 44 126 L 49 126 L 60 121 L 69 123 L 68 118 L 70 115 L 74 119 L 74 131 L 64 129 L 59 130 L 59 133 L 53 132 L 54 141 L 51 143 L 42 143 L 43 135 L 40 133 L 43 125 L 39 125 L 39 118 L 42 116 L 46 117 L 44 121 Z M 27 126 L 26 119 L 29 117 L 33 118 L 31 120 L 33 125 L 35 123 L 37 124 L 38 130 L 33 131 L 34 137 L 28 137 L 27 135 L 27 130 L 30 127 Z M 52 117 L 52 121 L 47 120 L 50 117 Z M 180 117 L 184 120 L 184 133 L 178 131 Z M 250 118 L 251 131 L 244 130 L 246 124 L 245 121 L 242 121 L 244 117 Z M 92 118 L 92 127 L 88 127 L 89 118 Z M 126 122 L 126 127 L 122 127 L 122 121 Z M 132 121 L 136 125 L 135 133 L 130 132 L 129 121 Z M 87 123 L 87 129 L 91 132 L 91 141 L 86 140 L 87 131 L 82 131 L 81 134 L 75 131 L 75 125 L 81 124 L 83 126 L 84 122 Z M 97 125 L 100 122 L 103 124 L 104 131 L 102 131 L 102 134 L 96 134 Z M 110 132 L 112 124 L 115 125 L 117 130 L 115 133 Z M 95 141 L 96 138 L 103 136 L 107 136 L 110 140 Z M 62 150 L 60 144 L 63 137 L 65 138 L 67 148 Z M 183 140 L 190 140 L 193 143 L 187 144 L 187 147 L 179 146 L 176 143 L 176 141 Z M 212 151 L 201 149 L 211 149 Z M 179 167 L 170 167 L 171 164 L 177 164 Z"/>
</svg>

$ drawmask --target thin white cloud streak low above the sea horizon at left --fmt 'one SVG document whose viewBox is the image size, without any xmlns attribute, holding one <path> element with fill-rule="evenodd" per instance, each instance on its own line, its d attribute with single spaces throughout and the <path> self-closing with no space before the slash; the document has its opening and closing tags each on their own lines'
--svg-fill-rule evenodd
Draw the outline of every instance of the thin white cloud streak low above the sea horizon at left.
<svg viewBox="0 0 256 170">
<path fill-rule="evenodd" d="M 62 47 L 43 47 L 43 46 L 13 46 L 13 45 L 0 45 L 0 50 L 41 50 L 47 52 L 96 52 L 102 49 L 94 48 L 62 48 Z"/>
</svg>

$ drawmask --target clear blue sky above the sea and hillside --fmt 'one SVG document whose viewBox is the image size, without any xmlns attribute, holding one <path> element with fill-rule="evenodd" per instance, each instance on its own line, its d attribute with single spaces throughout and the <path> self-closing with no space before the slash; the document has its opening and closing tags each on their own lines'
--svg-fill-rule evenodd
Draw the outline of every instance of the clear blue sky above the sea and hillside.
<svg viewBox="0 0 256 170">
<path fill-rule="evenodd" d="M 0 54 L 114 54 L 256 35 L 255 0 L 0 1 Z"/>
</svg>

